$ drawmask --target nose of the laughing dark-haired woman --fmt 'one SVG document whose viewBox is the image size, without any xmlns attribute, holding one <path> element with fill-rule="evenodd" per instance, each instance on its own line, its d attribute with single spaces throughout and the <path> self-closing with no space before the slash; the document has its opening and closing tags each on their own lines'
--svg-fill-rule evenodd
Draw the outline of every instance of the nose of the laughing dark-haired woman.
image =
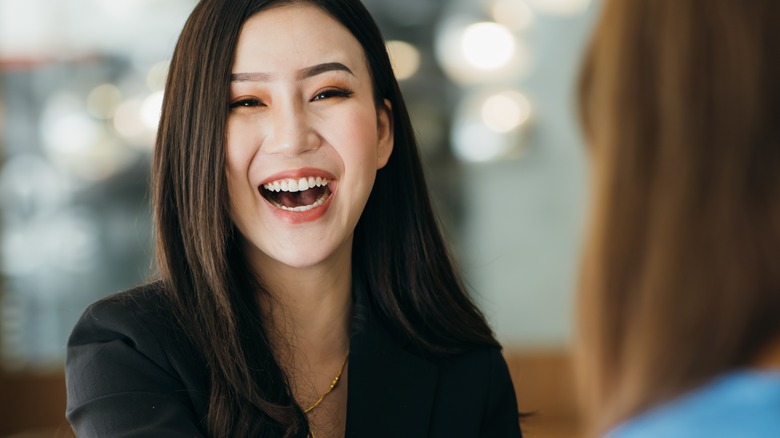
<svg viewBox="0 0 780 438">
<path fill-rule="evenodd" d="M 320 138 L 309 123 L 304 104 L 277 105 L 272 113 L 271 132 L 264 142 L 266 153 L 298 155 L 319 147 Z"/>
</svg>

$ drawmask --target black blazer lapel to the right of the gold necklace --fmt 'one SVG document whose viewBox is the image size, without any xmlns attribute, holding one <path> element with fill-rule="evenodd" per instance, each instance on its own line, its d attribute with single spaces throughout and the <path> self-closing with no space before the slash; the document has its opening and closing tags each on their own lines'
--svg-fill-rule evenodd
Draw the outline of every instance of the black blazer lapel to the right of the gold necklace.
<svg viewBox="0 0 780 438">
<path fill-rule="evenodd" d="M 438 367 L 405 349 L 385 327 L 360 275 L 352 288 L 346 438 L 426 437 Z"/>
</svg>

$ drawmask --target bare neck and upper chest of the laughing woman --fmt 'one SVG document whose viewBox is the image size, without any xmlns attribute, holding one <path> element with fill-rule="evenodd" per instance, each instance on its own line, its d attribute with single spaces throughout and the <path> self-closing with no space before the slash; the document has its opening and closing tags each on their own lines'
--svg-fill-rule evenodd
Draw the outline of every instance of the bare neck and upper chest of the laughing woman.
<svg viewBox="0 0 780 438">
<path fill-rule="evenodd" d="M 344 251 L 314 267 L 259 270 L 267 289 L 258 300 L 269 343 L 301 408 L 319 405 L 308 415 L 318 436 L 324 424 L 344 424 L 346 418 L 351 262 L 351 251 Z M 338 387 L 328 389 L 337 375 Z"/>
</svg>

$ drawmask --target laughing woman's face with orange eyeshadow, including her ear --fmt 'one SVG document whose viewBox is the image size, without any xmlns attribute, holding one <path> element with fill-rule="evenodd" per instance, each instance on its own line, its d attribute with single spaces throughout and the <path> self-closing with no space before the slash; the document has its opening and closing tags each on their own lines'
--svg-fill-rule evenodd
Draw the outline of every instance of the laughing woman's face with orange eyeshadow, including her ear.
<svg viewBox="0 0 780 438">
<path fill-rule="evenodd" d="M 349 261 L 352 234 L 393 147 L 363 49 L 307 3 L 252 16 L 230 86 L 231 217 L 259 273 Z"/>
</svg>

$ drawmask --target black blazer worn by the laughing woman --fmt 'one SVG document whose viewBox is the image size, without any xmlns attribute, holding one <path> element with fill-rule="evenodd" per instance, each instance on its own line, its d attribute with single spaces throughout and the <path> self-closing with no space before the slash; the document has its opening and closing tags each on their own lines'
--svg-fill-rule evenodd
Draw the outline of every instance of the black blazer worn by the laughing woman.
<svg viewBox="0 0 780 438">
<path fill-rule="evenodd" d="M 355 291 L 347 438 L 519 437 L 498 348 L 415 354 Z M 67 417 L 79 437 L 202 437 L 205 365 L 189 350 L 159 286 L 90 306 L 68 342 Z"/>
</svg>

